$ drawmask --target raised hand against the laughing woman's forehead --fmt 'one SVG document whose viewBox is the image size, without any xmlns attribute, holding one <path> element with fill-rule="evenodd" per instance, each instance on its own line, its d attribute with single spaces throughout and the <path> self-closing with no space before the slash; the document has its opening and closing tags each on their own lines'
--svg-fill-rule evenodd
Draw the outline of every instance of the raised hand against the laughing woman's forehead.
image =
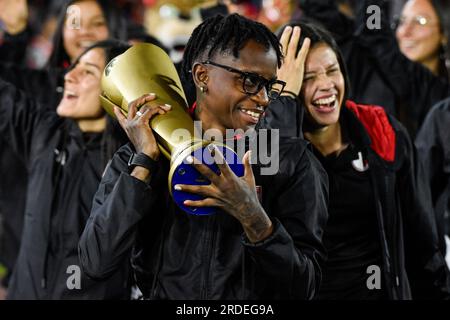
<svg viewBox="0 0 450 320">
<path fill-rule="evenodd" d="M 300 40 L 300 27 L 286 27 L 281 35 L 280 43 L 283 49 L 284 62 L 277 71 L 279 80 L 286 82 L 284 90 L 299 95 L 305 72 L 305 61 L 308 55 L 311 41 L 306 38 L 297 54 L 298 42 Z"/>
</svg>

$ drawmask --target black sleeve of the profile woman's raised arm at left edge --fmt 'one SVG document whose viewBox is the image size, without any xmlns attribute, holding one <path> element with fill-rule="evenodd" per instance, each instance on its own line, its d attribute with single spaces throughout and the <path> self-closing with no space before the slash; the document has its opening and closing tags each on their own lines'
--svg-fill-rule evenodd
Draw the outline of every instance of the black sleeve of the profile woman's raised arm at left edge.
<svg viewBox="0 0 450 320">
<path fill-rule="evenodd" d="M 28 161 L 34 132 L 44 117 L 42 109 L 24 92 L 0 78 L 0 134 L 24 162 Z"/>
</svg>

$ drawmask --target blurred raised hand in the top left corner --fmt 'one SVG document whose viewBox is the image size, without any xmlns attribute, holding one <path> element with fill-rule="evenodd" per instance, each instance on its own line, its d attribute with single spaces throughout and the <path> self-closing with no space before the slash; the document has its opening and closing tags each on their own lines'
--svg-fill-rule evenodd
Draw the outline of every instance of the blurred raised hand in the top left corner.
<svg viewBox="0 0 450 320">
<path fill-rule="evenodd" d="M 0 20 L 11 35 L 25 30 L 28 23 L 28 4 L 26 0 L 0 0 Z"/>
</svg>

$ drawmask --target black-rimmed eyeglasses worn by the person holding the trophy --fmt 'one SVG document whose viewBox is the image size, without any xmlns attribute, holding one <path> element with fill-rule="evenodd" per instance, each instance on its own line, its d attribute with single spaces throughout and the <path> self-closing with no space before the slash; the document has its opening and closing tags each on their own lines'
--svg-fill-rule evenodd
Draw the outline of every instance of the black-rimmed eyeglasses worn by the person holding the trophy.
<svg viewBox="0 0 450 320">
<path fill-rule="evenodd" d="M 207 60 L 202 62 L 202 64 L 209 64 L 239 74 L 242 77 L 242 89 L 250 96 L 257 94 L 264 87 L 266 88 L 268 98 L 270 100 L 275 100 L 280 96 L 281 92 L 283 92 L 284 86 L 286 85 L 286 82 L 284 81 L 275 79 L 267 80 L 259 74 L 241 71 L 214 61 Z"/>
</svg>

